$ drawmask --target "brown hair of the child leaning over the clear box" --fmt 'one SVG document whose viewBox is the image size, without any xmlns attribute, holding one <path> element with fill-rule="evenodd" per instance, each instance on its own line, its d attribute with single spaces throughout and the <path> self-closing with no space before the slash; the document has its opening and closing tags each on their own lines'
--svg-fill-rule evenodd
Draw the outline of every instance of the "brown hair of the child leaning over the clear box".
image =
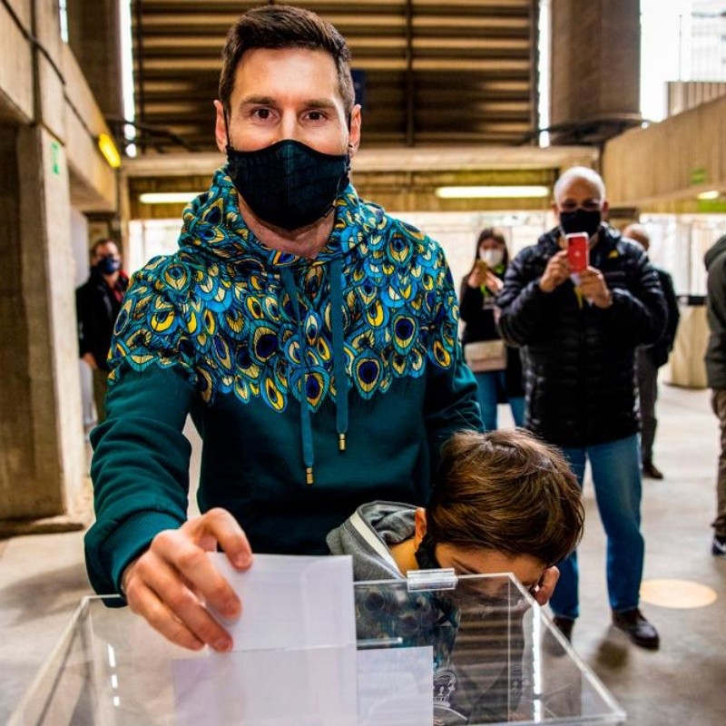
<svg viewBox="0 0 726 726">
<path fill-rule="evenodd" d="M 583 533 L 582 493 L 563 454 L 524 429 L 455 434 L 427 508 L 436 543 L 555 564 Z"/>
</svg>

